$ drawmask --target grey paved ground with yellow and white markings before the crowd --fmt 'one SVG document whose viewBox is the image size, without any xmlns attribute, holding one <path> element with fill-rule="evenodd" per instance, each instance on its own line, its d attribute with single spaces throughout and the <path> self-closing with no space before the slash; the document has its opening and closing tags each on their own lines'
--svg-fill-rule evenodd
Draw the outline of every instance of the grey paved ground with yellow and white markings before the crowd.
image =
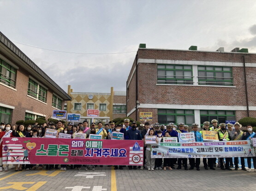
<svg viewBox="0 0 256 191">
<path fill-rule="evenodd" d="M 255 180 L 254 169 L 250 173 L 203 167 L 200 171 L 113 170 L 107 166 L 95 171 L 84 167 L 67 171 L 11 169 L 0 172 L 0 191 L 255 191 Z"/>
</svg>

